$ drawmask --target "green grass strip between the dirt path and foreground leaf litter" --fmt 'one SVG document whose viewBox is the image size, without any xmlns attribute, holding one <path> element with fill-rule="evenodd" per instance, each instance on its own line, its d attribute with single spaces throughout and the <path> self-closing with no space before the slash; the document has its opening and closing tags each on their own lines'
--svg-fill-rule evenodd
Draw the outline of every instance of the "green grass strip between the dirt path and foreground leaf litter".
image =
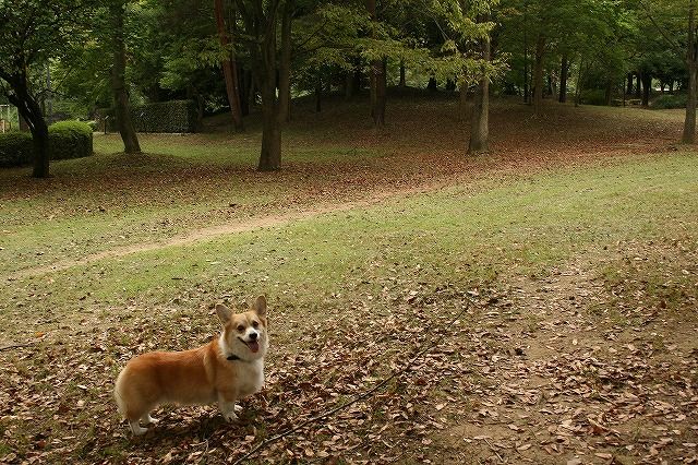
<svg viewBox="0 0 698 465">
<path fill-rule="evenodd" d="M 697 229 L 697 176 L 695 154 L 673 153 L 482 181 L 489 186 L 477 192 L 452 187 L 5 283 L 0 306 L 39 295 L 46 299 L 33 303 L 35 312 L 69 315 L 92 306 L 170 305 L 197 289 L 202 299 L 267 293 L 321 311 L 334 294 L 381 300 L 423 286 L 493 284 L 624 241 Z"/>
</svg>

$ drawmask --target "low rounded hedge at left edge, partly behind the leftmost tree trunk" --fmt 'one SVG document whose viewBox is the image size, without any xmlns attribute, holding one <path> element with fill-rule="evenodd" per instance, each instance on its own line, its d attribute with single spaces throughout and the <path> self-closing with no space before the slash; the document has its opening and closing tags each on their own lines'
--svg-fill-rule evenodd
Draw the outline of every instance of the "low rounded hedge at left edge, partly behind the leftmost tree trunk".
<svg viewBox="0 0 698 465">
<path fill-rule="evenodd" d="M 60 121 L 48 128 L 50 159 L 80 158 L 93 153 L 92 129 L 81 121 Z M 34 142 L 28 132 L 0 134 L 0 167 L 31 165 Z"/>
</svg>

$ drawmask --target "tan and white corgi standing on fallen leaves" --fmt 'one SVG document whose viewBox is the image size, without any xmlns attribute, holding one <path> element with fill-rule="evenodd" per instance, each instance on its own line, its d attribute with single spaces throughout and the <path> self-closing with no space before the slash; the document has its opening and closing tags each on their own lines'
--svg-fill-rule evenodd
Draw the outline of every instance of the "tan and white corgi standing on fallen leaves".
<svg viewBox="0 0 698 465">
<path fill-rule="evenodd" d="M 264 385 L 264 356 L 269 347 L 266 299 L 257 297 L 244 313 L 216 306 L 222 332 L 209 344 L 184 351 L 140 355 L 119 373 L 115 397 L 135 436 L 155 424 L 151 412 L 160 404 L 217 403 L 224 418 L 238 418 L 234 402 Z"/>
</svg>

